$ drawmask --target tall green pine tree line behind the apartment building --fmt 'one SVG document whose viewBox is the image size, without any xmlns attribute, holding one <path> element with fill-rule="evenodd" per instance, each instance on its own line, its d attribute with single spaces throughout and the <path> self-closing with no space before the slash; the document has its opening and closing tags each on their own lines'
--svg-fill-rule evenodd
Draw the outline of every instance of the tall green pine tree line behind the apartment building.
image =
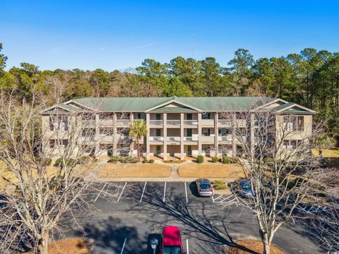
<svg viewBox="0 0 339 254">
<path fill-rule="evenodd" d="M 299 54 L 254 59 L 249 50 L 238 49 L 225 67 L 213 57 L 196 60 L 178 56 L 169 63 L 145 59 L 136 73 L 40 71 L 30 63 L 4 71 L 6 60 L 0 54 L 1 86 L 19 87 L 25 100 L 30 99 L 32 84 L 50 93 L 58 83 L 66 87 L 62 90 L 65 99 L 265 95 L 318 111 L 316 121 L 326 120 L 328 131 L 337 138 L 339 135 L 339 52 L 307 48 Z"/>
</svg>

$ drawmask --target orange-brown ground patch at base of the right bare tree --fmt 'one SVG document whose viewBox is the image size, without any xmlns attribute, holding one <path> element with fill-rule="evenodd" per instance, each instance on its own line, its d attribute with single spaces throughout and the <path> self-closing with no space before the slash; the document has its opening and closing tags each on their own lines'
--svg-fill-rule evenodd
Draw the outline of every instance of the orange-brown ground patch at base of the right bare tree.
<svg viewBox="0 0 339 254">
<path fill-rule="evenodd" d="M 261 241 L 256 240 L 239 240 L 236 241 L 239 247 L 227 247 L 227 253 L 229 254 L 261 254 L 263 253 L 263 243 Z M 270 246 L 271 254 L 285 254 L 283 250 L 280 250 L 276 246 Z"/>
</svg>

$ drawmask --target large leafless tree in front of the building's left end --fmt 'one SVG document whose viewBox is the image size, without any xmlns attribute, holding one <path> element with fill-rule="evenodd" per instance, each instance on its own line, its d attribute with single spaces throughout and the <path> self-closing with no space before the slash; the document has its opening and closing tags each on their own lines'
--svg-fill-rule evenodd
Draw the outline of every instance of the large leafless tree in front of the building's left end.
<svg viewBox="0 0 339 254">
<path fill-rule="evenodd" d="M 25 104 L 16 88 L 0 94 L 1 253 L 25 243 L 46 254 L 49 237 L 61 232 L 64 214 L 76 219 L 74 209 L 93 209 L 86 195 L 95 177 L 92 159 L 85 155 L 95 156 L 95 114 L 57 105 L 48 121 L 41 121 L 40 111 L 51 102 L 32 91 Z"/>
</svg>

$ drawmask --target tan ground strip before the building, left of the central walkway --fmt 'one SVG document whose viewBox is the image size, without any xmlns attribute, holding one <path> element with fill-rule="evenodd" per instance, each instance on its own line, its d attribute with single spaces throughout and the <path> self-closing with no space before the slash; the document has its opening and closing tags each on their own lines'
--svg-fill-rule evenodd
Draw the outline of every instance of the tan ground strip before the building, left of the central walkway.
<svg viewBox="0 0 339 254">
<path fill-rule="evenodd" d="M 107 163 L 97 171 L 101 178 L 164 178 L 169 177 L 171 168 L 161 164 L 111 164 Z"/>
</svg>

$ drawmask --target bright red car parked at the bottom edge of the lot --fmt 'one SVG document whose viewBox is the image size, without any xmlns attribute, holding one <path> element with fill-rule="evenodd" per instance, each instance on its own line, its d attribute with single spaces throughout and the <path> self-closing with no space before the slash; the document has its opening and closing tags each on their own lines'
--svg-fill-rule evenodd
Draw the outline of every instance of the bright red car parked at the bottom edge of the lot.
<svg viewBox="0 0 339 254">
<path fill-rule="evenodd" d="M 184 254 L 182 236 L 177 226 L 165 226 L 162 229 L 161 254 Z"/>
</svg>

